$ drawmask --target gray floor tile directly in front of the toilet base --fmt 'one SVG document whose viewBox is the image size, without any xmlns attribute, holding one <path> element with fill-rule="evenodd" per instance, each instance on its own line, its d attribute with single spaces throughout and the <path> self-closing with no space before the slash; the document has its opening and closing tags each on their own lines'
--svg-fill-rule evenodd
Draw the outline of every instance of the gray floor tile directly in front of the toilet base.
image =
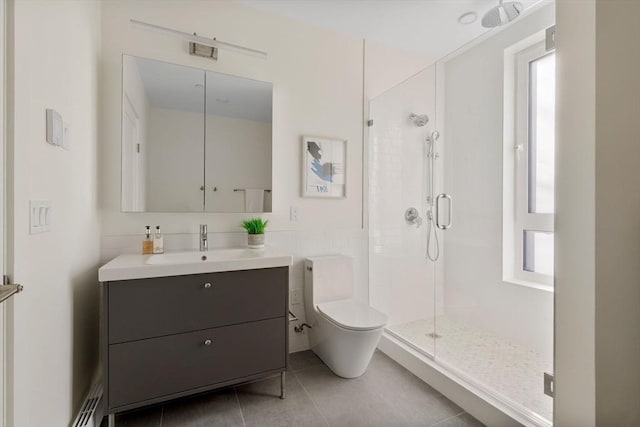
<svg viewBox="0 0 640 427">
<path fill-rule="evenodd" d="M 407 425 L 363 378 L 340 378 L 324 365 L 304 369 L 295 375 L 331 426 Z"/>
</svg>

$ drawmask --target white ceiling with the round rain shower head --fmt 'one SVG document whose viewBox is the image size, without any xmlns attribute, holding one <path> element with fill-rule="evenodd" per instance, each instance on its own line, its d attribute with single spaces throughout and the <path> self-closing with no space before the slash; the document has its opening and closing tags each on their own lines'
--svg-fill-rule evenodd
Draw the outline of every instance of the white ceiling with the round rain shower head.
<svg viewBox="0 0 640 427">
<path fill-rule="evenodd" d="M 435 61 L 487 31 L 482 15 L 498 0 L 235 0 L 238 3 L 426 55 Z M 538 0 L 518 0 L 525 8 Z M 543 0 L 544 1 L 544 0 Z M 474 11 L 470 25 L 458 17 Z"/>
</svg>

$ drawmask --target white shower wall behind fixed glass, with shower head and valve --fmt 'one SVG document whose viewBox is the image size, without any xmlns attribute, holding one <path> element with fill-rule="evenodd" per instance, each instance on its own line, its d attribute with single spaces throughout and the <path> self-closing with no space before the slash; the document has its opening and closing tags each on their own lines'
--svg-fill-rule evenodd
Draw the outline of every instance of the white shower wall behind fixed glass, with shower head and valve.
<svg viewBox="0 0 640 427">
<path fill-rule="evenodd" d="M 426 207 L 425 138 L 435 123 L 434 68 L 430 67 L 369 104 L 374 125 L 369 138 L 370 303 L 389 324 L 434 314 L 434 267 L 426 259 L 426 222 L 404 220 Z M 427 114 L 416 126 L 410 114 Z"/>
</svg>

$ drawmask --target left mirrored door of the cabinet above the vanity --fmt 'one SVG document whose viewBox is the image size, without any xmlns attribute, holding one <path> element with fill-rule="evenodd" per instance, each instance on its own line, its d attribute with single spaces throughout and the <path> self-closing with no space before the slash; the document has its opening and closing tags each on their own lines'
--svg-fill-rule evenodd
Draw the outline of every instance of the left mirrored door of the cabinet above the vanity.
<svg viewBox="0 0 640 427">
<path fill-rule="evenodd" d="M 202 211 L 204 73 L 124 56 L 122 210 Z"/>
</svg>

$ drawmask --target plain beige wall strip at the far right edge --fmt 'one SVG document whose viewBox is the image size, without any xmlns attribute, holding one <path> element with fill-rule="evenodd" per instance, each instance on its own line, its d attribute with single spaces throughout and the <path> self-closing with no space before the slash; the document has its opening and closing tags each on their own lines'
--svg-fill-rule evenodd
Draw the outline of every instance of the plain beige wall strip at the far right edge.
<svg viewBox="0 0 640 427">
<path fill-rule="evenodd" d="M 638 17 L 638 1 L 596 2 L 597 425 L 640 425 Z"/>
</svg>

